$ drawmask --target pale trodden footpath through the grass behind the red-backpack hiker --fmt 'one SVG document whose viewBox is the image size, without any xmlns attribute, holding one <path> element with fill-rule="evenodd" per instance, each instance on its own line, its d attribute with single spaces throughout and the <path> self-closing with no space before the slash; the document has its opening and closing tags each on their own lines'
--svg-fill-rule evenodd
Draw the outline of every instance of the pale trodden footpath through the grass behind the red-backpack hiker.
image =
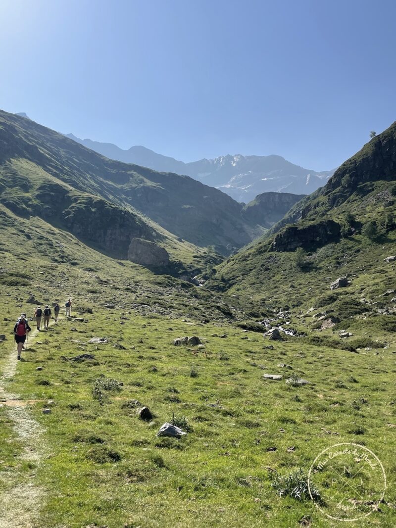
<svg viewBox="0 0 396 528">
<path fill-rule="evenodd" d="M 29 345 L 33 344 L 38 331 L 29 334 Z M 10 343 L 10 348 L 14 342 Z M 8 392 L 7 385 L 15 375 L 18 361 L 16 350 L 11 348 L 2 365 L 0 377 L 0 405 L 6 408 L 13 422 L 16 438 L 20 441 L 22 452 L 18 456 L 21 464 L 12 471 L 0 472 L 0 528 L 34 528 L 40 514 L 44 490 L 37 485 L 36 474 L 46 455 L 46 446 L 42 440 L 42 427 L 34 420 L 30 404 L 34 400 L 21 400 L 17 394 Z M 22 357 L 29 358 L 29 352 L 22 351 Z M 23 461 L 29 461 L 32 469 L 29 475 L 22 469 Z M 28 482 L 27 482 L 28 481 Z"/>
</svg>

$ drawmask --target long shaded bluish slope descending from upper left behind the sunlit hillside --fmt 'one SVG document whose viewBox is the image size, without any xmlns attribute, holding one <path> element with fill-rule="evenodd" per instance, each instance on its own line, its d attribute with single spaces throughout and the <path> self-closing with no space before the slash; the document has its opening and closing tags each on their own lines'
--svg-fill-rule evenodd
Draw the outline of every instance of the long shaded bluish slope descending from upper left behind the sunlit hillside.
<svg viewBox="0 0 396 528">
<path fill-rule="evenodd" d="M 140 217 L 143 213 L 177 237 L 201 247 L 214 245 L 225 254 L 264 231 L 262 226 L 243 220 L 239 203 L 212 187 L 188 176 L 113 161 L 34 121 L 6 112 L 0 112 L 0 169 L 2 199 L 8 204 L 15 181 L 29 191 L 29 178 L 40 175 L 38 181 L 53 180 L 50 194 L 61 202 L 65 195 L 62 188 L 69 186 Z M 23 200 L 21 194 L 13 200 L 25 206 L 29 202 L 29 209 L 34 200 L 41 203 L 39 195 L 45 199 L 48 190 L 38 185 L 33 196 L 24 193 Z M 52 197 L 50 208 L 51 203 Z"/>
</svg>

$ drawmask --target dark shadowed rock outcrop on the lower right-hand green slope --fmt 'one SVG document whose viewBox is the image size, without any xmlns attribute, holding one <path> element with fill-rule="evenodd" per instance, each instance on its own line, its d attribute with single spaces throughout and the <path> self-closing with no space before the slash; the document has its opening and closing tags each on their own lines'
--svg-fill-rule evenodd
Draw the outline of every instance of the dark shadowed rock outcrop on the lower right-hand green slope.
<svg viewBox="0 0 396 528">
<path fill-rule="evenodd" d="M 340 232 L 340 224 L 334 220 L 322 220 L 307 225 L 289 225 L 275 235 L 269 250 L 294 251 L 297 248 L 320 248 L 340 239 Z"/>
</svg>

